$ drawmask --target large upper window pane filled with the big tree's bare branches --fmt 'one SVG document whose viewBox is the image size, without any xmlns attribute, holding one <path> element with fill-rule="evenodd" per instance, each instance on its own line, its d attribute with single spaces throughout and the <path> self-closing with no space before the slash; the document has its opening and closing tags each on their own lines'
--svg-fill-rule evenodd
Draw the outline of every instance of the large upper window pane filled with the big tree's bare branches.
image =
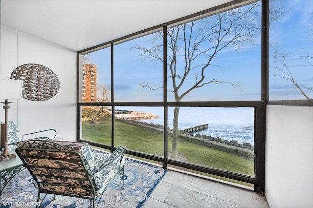
<svg viewBox="0 0 313 208">
<path fill-rule="evenodd" d="M 168 29 L 168 101 L 261 99 L 261 2 Z"/>
</svg>

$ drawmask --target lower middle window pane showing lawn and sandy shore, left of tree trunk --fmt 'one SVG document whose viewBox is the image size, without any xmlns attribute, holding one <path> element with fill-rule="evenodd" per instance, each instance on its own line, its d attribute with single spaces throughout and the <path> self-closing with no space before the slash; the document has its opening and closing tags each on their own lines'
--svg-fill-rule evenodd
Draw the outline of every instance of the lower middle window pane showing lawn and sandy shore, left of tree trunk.
<svg viewBox="0 0 313 208">
<path fill-rule="evenodd" d="M 133 107 L 115 108 L 114 146 L 146 154 L 163 156 L 163 108 Z M 159 121 L 156 125 L 154 121 Z"/>
</svg>

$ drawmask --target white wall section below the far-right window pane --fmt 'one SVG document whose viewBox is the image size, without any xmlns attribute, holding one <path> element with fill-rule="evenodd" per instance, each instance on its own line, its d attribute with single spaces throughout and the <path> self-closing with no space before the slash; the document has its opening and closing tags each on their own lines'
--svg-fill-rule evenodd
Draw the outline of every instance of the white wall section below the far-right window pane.
<svg viewBox="0 0 313 208">
<path fill-rule="evenodd" d="M 266 135 L 269 206 L 313 207 L 313 107 L 268 105 Z"/>
</svg>

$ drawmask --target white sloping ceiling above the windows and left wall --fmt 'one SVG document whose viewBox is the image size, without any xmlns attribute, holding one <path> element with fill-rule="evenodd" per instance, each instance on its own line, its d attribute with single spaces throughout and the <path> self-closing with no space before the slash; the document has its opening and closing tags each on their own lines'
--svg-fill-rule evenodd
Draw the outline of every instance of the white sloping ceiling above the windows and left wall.
<svg viewBox="0 0 313 208">
<path fill-rule="evenodd" d="M 1 24 L 80 51 L 232 0 L 1 0 Z"/>
</svg>

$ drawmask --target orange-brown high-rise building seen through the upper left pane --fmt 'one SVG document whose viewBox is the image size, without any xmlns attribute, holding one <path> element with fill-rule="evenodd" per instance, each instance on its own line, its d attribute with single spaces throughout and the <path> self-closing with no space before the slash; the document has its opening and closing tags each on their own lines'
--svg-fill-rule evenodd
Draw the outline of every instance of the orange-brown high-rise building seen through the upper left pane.
<svg viewBox="0 0 313 208">
<path fill-rule="evenodd" d="M 82 102 L 97 102 L 97 65 L 83 64 Z"/>
</svg>

